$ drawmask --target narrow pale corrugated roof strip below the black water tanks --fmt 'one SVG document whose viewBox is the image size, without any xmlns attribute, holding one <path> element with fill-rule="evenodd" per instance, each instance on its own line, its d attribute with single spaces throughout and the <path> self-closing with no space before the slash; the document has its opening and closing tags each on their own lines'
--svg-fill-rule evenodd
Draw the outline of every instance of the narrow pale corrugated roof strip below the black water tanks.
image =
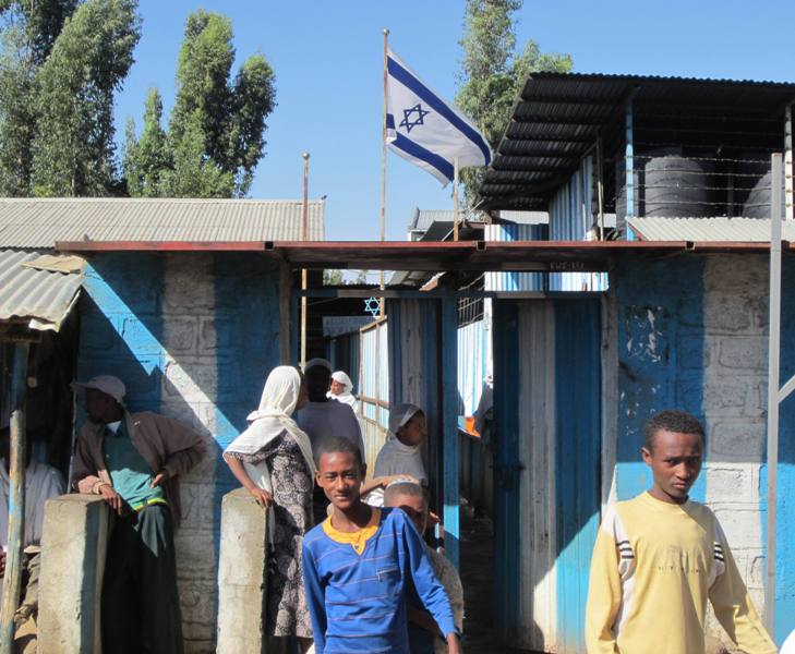
<svg viewBox="0 0 795 654">
<path fill-rule="evenodd" d="M 770 220 L 763 218 L 630 218 L 642 241 L 746 242 L 770 241 Z M 795 223 L 783 221 L 782 238 L 795 241 Z"/>
</svg>

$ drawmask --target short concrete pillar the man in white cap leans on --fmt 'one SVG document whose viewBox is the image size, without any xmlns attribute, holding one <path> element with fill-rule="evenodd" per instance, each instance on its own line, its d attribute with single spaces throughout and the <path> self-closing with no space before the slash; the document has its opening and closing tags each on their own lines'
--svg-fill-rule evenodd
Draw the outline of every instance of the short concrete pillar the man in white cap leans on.
<svg viewBox="0 0 795 654">
<path fill-rule="evenodd" d="M 99 601 L 110 513 L 95 495 L 45 505 L 38 652 L 101 654 Z"/>
</svg>

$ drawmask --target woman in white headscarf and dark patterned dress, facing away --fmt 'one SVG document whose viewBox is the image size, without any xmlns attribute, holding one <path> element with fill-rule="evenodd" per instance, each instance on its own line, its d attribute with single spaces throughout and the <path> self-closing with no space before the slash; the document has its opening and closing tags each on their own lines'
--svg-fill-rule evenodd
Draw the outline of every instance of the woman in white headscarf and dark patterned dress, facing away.
<svg viewBox="0 0 795 654">
<path fill-rule="evenodd" d="M 312 625 L 303 589 L 301 545 L 312 528 L 315 464 L 309 436 L 292 420 L 292 413 L 308 397 L 301 373 L 287 365 L 274 368 L 265 382 L 260 408 L 248 416 L 249 428 L 224 451 L 224 460 L 238 481 L 272 511 L 268 633 L 297 637 L 304 652 L 312 644 Z"/>
</svg>

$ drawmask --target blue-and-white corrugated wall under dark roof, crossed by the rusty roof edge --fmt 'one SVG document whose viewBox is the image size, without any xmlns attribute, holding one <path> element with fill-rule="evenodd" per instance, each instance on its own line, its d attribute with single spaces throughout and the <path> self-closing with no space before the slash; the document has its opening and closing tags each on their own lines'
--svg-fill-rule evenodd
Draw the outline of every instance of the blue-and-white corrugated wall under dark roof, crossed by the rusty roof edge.
<svg viewBox="0 0 795 654">
<path fill-rule="evenodd" d="M 594 226 L 593 158 L 585 157 L 550 202 L 550 241 L 587 241 Z M 606 272 L 551 272 L 552 291 L 603 291 Z"/>
</svg>

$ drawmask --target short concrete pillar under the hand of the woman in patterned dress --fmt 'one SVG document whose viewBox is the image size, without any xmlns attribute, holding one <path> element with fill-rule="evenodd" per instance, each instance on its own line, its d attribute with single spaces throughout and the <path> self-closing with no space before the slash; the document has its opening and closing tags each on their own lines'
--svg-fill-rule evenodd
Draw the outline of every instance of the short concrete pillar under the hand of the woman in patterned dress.
<svg viewBox="0 0 795 654">
<path fill-rule="evenodd" d="M 268 650 L 267 514 L 245 488 L 224 496 L 217 654 L 263 654 Z"/>
</svg>

